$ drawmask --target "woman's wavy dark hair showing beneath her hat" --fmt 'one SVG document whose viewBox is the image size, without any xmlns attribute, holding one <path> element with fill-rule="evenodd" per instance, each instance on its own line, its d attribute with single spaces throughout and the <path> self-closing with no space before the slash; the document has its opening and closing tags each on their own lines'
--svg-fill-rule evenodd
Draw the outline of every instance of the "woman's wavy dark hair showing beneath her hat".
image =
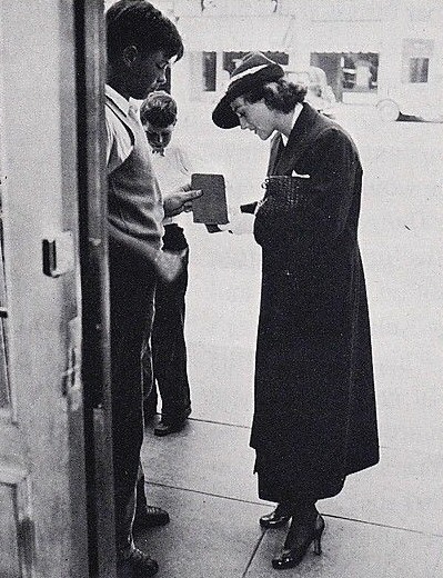
<svg viewBox="0 0 443 578">
<path fill-rule="evenodd" d="M 271 110 L 291 112 L 298 102 L 303 102 L 306 92 L 305 86 L 294 84 L 284 78 L 280 78 L 253 88 L 242 94 L 242 97 L 251 104 L 263 99 L 266 107 Z"/>
</svg>

